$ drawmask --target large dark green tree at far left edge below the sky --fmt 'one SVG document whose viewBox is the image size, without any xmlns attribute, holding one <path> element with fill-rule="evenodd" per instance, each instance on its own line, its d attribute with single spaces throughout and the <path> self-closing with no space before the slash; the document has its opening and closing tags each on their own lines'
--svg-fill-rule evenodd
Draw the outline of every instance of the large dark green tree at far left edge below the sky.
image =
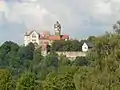
<svg viewBox="0 0 120 90">
<path fill-rule="evenodd" d="M 18 44 L 6 41 L 0 47 L 0 67 L 9 68 L 12 74 L 17 75 L 21 67 L 21 61 L 18 56 Z"/>
</svg>

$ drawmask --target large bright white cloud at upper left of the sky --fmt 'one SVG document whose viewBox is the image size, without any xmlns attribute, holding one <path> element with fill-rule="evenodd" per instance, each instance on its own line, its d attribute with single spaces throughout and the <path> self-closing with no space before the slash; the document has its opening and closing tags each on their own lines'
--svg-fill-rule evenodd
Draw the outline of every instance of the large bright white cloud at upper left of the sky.
<svg viewBox="0 0 120 90">
<path fill-rule="evenodd" d="M 6 13 L 9 22 L 24 22 L 28 28 L 42 27 L 45 22 L 44 17 L 51 15 L 49 11 L 37 3 L 15 3 Z"/>
</svg>

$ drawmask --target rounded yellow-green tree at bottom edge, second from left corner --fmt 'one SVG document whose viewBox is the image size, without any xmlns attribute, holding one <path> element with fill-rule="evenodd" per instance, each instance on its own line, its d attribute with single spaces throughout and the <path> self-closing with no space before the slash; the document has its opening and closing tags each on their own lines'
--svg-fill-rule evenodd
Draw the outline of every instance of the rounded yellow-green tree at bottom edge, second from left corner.
<svg viewBox="0 0 120 90">
<path fill-rule="evenodd" d="M 17 82 L 17 90 L 34 90 L 35 77 L 31 72 L 25 72 L 20 76 Z"/>
</svg>

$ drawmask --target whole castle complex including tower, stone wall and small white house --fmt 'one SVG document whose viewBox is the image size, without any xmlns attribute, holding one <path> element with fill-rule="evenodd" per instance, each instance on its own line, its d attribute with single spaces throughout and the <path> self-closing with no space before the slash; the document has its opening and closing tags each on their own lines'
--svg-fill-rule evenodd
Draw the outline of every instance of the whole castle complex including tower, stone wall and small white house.
<svg viewBox="0 0 120 90">
<path fill-rule="evenodd" d="M 26 32 L 24 35 L 24 45 L 27 46 L 29 43 L 33 43 L 35 47 L 41 47 L 42 55 L 47 55 L 48 46 L 51 46 L 54 41 L 58 40 L 69 40 L 69 35 L 61 34 L 61 25 L 57 21 L 54 24 L 54 35 L 51 35 L 49 31 L 44 31 L 42 33 L 38 33 L 37 31 L 30 30 L 30 32 Z M 87 42 L 84 42 L 82 45 L 82 51 L 79 52 L 56 52 L 58 55 L 65 55 L 71 60 L 74 60 L 78 56 L 85 57 L 86 52 L 91 48 L 91 45 Z"/>
</svg>

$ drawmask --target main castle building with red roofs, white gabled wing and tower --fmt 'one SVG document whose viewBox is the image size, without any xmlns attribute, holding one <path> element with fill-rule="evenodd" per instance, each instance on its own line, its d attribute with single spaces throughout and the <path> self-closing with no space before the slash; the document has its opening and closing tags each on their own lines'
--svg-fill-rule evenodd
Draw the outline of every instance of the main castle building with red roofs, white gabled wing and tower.
<svg viewBox="0 0 120 90">
<path fill-rule="evenodd" d="M 69 35 L 61 34 L 61 25 L 58 21 L 54 24 L 54 35 L 51 35 L 49 31 L 38 33 L 35 30 L 26 32 L 24 35 L 25 46 L 32 42 L 35 46 L 41 46 L 42 51 L 46 51 L 47 45 L 57 40 L 69 40 Z"/>
</svg>

